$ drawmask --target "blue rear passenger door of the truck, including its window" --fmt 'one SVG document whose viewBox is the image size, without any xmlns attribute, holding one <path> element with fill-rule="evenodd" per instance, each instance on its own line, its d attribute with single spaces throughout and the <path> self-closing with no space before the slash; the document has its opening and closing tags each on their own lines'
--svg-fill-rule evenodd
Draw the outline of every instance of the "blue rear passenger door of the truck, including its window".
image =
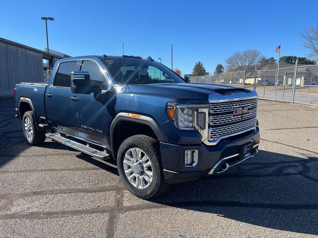
<svg viewBox="0 0 318 238">
<path fill-rule="evenodd" d="M 52 84 L 45 92 L 45 114 L 53 127 L 63 130 L 70 126 L 71 72 L 75 71 L 80 61 L 59 63 Z"/>
</svg>

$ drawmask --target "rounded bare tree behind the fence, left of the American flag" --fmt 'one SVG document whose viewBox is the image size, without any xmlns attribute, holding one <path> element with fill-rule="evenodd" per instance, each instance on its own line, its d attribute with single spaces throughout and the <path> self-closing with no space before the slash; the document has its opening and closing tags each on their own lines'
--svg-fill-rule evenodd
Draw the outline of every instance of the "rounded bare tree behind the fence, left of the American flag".
<svg viewBox="0 0 318 238">
<path fill-rule="evenodd" d="M 255 65 L 260 65 L 264 56 L 258 50 L 246 50 L 243 52 L 236 52 L 230 56 L 225 62 L 227 68 L 234 68 L 235 71 L 244 70 L 246 66 L 247 70 L 253 70 Z"/>
</svg>

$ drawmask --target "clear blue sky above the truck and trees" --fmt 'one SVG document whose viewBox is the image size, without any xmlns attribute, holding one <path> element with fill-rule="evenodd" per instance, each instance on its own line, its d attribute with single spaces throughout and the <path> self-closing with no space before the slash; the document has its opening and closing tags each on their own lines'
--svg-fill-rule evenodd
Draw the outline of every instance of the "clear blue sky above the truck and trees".
<svg viewBox="0 0 318 238">
<path fill-rule="evenodd" d="M 277 58 L 308 56 L 299 33 L 318 24 L 317 0 L 5 0 L 0 37 L 44 50 L 48 22 L 50 49 L 71 56 L 151 56 L 191 73 L 201 60 L 209 72 L 236 51 L 257 49 Z"/>
</svg>

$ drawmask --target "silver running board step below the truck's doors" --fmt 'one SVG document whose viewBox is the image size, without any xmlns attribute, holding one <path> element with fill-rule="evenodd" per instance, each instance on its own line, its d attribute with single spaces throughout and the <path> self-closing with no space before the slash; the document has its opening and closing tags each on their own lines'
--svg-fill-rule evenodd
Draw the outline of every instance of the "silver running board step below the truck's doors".
<svg viewBox="0 0 318 238">
<path fill-rule="evenodd" d="M 86 146 L 86 145 L 82 145 L 74 140 L 70 140 L 68 138 L 59 136 L 59 135 L 54 134 L 54 133 L 46 133 L 45 136 L 47 138 L 50 138 L 50 139 L 56 141 L 56 142 L 60 142 L 64 145 L 67 145 L 73 149 L 79 150 L 80 152 L 83 152 L 83 153 L 90 155 L 92 157 L 95 157 L 97 159 L 100 159 L 100 160 L 110 159 L 109 154 L 107 154 L 106 152 L 96 150 L 96 149 L 91 148 L 91 147 Z"/>
</svg>

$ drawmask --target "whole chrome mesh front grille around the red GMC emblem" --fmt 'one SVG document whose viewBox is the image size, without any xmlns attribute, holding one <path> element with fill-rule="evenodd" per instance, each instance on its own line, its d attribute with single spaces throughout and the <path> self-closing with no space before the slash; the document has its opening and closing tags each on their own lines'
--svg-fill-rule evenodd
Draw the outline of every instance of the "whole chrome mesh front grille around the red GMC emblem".
<svg viewBox="0 0 318 238">
<path fill-rule="evenodd" d="M 248 113 L 234 116 L 234 109 L 248 107 Z M 209 111 L 208 141 L 218 143 L 225 137 L 236 135 L 255 128 L 257 114 L 257 98 L 211 103 Z"/>
</svg>

